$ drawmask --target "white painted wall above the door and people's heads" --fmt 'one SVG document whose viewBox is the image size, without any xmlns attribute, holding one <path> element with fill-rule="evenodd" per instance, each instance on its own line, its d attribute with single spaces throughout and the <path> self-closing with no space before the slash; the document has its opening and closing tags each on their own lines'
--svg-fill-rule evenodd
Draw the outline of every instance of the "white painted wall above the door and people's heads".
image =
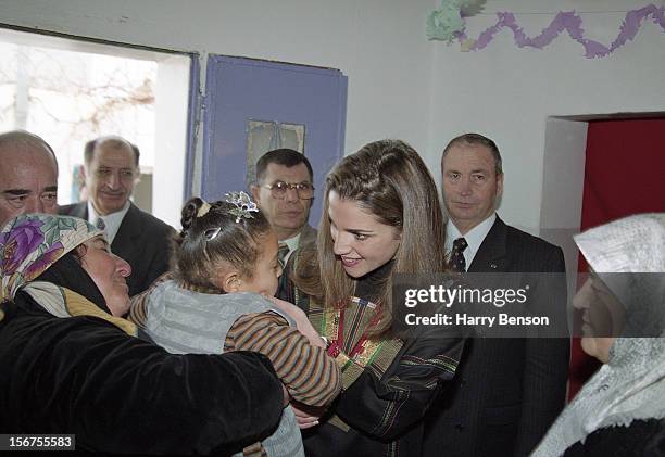
<svg viewBox="0 0 665 457">
<path fill-rule="evenodd" d="M 347 152 L 378 138 L 402 138 L 421 151 L 438 177 L 440 151 L 449 139 L 464 131 L 484 132 L 504 155 L 500 212 L 509 223 L 532 232 L 539 231 L 541 220 L 548 116 L 665 111 L 665 34 L 653 23 L 602 60 L 585 59 L 582 48 L 567 34 L 544 50 L 518 49 L 509 30 L 486 49 L 465 53 L 459 45 L 425 39 L 426 16 L 438 4 L 0 0 L 0 22 L 196 51 L 203 58 L 212 52 L 339 68 L 349 76 Z M 625 16 L 620 11 L 645 4 L 488 0 L 484 14 L 467 21 L 467 29 L 475 37 L 495 23 L 494 12 L 512 11 L 532 36 L 556 12 L 577 10 L 589 37 L 610 43 Z"/>
</svg>

